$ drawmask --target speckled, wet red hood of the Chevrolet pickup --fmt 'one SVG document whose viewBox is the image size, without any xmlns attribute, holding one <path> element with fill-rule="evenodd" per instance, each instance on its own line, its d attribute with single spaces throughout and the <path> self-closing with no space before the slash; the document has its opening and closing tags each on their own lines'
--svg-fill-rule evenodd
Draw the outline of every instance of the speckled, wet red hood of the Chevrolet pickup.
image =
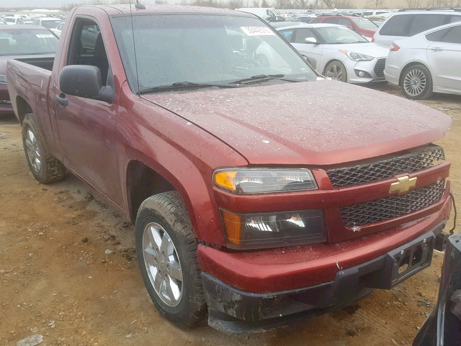
<svg viewBox="0 0 461 346">
<path fill-rule="evenodd" d="M 327 79 L 142 98 L 261 165 L 366 159 L 440 139 L 451 124 L 417 102 Z"/>
</svg>

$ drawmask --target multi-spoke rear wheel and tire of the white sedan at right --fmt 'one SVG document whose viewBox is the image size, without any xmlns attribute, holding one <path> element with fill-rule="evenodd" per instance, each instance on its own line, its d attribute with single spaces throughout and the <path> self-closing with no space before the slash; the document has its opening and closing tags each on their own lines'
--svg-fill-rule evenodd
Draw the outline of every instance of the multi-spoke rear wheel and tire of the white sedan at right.
<svg viewBox="0 0 461 346">
<path fill-rule="evenodd" d="M 424 100 L 432 95 L 431 72 L 424 65 L 408 67 L 402 74 L 401 89 L 405 97 L 412 100 Z"/>
</svg>

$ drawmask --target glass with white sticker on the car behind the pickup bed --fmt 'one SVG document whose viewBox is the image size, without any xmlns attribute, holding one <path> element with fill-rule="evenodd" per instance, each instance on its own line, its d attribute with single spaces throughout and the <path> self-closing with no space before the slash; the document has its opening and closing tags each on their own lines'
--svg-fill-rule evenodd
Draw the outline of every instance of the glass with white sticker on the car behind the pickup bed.
<svg viewBox="0 0 461 346">
<path fill-rule="evenodd" d="M 54 54 L 58 39 L 48 30 L 0 30 L 0 56 Z"/>
</svg>

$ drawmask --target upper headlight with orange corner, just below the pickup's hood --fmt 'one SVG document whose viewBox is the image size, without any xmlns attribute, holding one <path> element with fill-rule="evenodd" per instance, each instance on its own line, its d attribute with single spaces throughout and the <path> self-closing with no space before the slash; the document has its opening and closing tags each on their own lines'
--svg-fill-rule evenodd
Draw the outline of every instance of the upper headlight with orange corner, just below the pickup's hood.
<svg viewBox="0 0 461 346">
<path fill-rule="evenodd" d="M 308 169 L 224 168 L 213 173 L 213 184 L 233 193 L 285 192 L 317 189 Z"/>
</svg>

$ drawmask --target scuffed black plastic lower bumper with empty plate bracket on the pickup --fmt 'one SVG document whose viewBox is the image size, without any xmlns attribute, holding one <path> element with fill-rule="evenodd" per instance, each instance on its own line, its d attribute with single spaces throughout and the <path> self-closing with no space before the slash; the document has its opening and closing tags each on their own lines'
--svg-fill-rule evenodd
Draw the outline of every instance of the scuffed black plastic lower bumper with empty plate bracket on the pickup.
<svg viewBox="0 0 461 346">
<path fill-rule="evenodd" d="M 332 281 L 296 290 L 243 292 L 202 272 L 208 324 L 227 333 L 252 333 L 340 310 L 375 288 L 390 289 L 431 265 L 436 237 L 445 224 L 443 221 L 419 238 L 371 261 L 344 270 L 338 268 Z M 408 267 L 402 270 L 405 264 Z"/>
</svg>

